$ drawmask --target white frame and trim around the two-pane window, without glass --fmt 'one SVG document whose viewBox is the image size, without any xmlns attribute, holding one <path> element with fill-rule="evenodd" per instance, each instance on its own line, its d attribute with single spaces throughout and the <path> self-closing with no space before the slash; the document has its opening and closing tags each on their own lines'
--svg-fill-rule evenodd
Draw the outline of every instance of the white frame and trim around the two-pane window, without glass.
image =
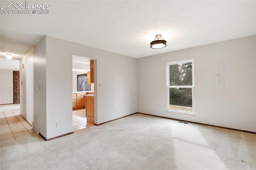
<svg viewBox="0 0 256 170">
<path fill-rule="evenodd" d="M 192 62 L 192 86 L 170 86 L 170 71 L 169 71 L 169 65 L 174 65 L 174 64 L 180 64 L 180 63 L 189 63 Z M 192 88 L 192 112 L 188 111 L 179 111 L 179 110 L 173 110 L 170 109 L 170 88 Z M 167 101 L 167 114 L 173 113 L 173 114 L 178 114 L 178 115 L 187 115 L 187 116 L 193 116 L 195 115 L 194 112 L 194 59 L 188 59 L 188 60 L 180 60 L 180 61 L 172 61 L 172 62 L 167 62 L 166 63 L 166 91 L 167 91 L 167 96 L 166 96 L 166 101 Z"/>
</svg>

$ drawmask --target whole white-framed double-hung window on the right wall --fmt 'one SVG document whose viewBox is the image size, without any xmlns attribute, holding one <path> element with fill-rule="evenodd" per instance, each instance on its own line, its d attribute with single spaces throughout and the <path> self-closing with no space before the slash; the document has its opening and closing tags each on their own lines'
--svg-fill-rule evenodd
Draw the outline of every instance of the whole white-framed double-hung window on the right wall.
<svg viewBox="0 0 256 170">
<path fill-rule="evenodd" d="M 168 113 L 194 115 L 194 67 L 193 60 L 166 64 Z"/>
</svg>

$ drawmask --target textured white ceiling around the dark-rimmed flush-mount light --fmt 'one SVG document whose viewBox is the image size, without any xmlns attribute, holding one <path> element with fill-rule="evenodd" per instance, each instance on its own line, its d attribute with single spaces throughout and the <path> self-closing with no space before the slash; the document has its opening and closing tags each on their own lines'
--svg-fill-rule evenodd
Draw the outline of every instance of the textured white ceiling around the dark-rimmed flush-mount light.
<svg viewBox="0 0 256 170">
<path fill-rule="evenodd" d="M 1 0 L 0 8 L 14 1 Z M 0 14 L 0 57 L 20 59 L 44 35 L 139 58 L 256 34 L 255 0 L 26 3 L 50 4 L 49 14 Z M 165 48 L 150 48 L 156 34 Z"/>
</svg>

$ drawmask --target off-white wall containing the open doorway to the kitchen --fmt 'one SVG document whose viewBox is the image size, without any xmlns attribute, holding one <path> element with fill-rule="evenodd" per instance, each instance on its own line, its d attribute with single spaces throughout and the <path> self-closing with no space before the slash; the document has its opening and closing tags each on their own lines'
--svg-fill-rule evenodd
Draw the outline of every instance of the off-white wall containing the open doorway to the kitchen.
<svg viewBox="0 0 256 170">
<path fill-rule="evenodd" d="M 46 138 L 72 132 L 72 55 L 97 59 L 96 81 L 102 87 L 94 85 L 98 89 L 94 123 L 136 113 L 136 59 L 50 36 L 46 40 Z"/>
</svg>

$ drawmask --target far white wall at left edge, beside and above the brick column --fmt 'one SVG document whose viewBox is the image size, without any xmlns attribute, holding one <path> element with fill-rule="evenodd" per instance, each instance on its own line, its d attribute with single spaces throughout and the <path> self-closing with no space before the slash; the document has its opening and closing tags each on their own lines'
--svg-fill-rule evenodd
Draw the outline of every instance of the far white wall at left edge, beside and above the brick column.
<svg viewBox="0 0 256 170">
<path fill-rule="evenodd" d="M 19 71 L 19 61 L 0 58 L 0 105 L 14 102 L 13 71 Z"/>
</svg>

